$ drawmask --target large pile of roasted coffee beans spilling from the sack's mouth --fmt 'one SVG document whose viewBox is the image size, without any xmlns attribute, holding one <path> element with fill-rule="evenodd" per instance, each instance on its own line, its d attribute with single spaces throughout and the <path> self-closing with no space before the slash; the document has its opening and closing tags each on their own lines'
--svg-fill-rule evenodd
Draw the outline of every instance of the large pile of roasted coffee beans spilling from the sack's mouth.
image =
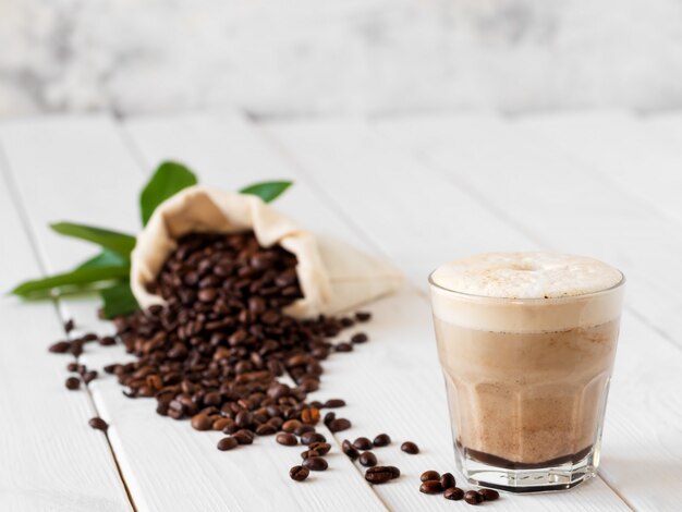
<svg viewBox="0 0 682 512">
<path fill-rule="evenodd" d="M 165 305 L 114 318 L 114 337 L 88 333 L 50 351 L 76 358 L 69 370 L 78 376 L 65 382 L 76 390 L 97 377 L 77 363 L 85 344 L 121 342 L 136 361 L 105 371 L 117 376 L 126 397 L 154 398 L 162 416 L 224 432 L 218 442 L 223 451 L 280 432 L 277 442 L 307 447 L 304 470 L 324 471 L 331 447 L 315 425 L 321 419 L 332 432 L 352 425 L 331 411 L 321 417 L 321 410 L 341 407 L 343 400 L 308 403 L 306 395 L 319 388 L 321 361 L 368 341 L 364 332 L 336 345 L 328 339 L 372 315 L 287 316 L 283 309 L 303 296 L 295 267 L 292 254 L 260 247 L 253 232 L 188 234 L 148 285 Z M 71 320 L 64 326 L 66 332 L 73 328 Z M 305 478 L 304 471 L 294 473 L 292 478 Z"/>
</svg>

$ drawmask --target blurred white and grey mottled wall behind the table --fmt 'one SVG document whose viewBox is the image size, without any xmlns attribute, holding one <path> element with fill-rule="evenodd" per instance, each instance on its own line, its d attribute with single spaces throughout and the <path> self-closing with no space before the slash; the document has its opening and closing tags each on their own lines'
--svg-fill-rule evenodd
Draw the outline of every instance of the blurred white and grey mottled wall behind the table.
<svg viewBox="0 0 682 512">
<path fill-rule="evenodd" d="M 0 115 L 682 106 L 679 0 L 0 0 Z"/>
</svg>

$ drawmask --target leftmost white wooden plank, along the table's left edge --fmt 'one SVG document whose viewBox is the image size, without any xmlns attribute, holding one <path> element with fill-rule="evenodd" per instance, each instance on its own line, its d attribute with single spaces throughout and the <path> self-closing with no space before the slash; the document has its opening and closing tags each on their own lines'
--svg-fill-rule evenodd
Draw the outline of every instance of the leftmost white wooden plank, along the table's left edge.
<svg viewBox="0 0 682 512">
<path fill-rule="evenodd" d="M 107 438 L 87 424 L 96 414 L 90 399 L 64 387 L 70 357 L 48 353 L 65 337 L 54 305 L 5 294 L 41 273 L 7 163 L 0 148 L 0 510 L 131 510 Z"/>
</svg>

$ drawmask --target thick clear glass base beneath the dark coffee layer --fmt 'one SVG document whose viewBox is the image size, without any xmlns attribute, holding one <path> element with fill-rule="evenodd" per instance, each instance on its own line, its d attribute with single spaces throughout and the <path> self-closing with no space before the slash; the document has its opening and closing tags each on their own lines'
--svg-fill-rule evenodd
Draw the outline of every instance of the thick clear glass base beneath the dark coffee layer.
<svg viewBox="0 0 682 512">
<path fill-rule="evenodd" d="M 456 462 L 470 484 L 500 489 L 509 492 L 547 492 L 565 490 L 595 476 L 598 450 L 593 447 L 580 459 L 560 463 L 548 463 L 544 467 L 509 467 L 508 464 L 492 465 L 455 444 Z"/>
</svg>

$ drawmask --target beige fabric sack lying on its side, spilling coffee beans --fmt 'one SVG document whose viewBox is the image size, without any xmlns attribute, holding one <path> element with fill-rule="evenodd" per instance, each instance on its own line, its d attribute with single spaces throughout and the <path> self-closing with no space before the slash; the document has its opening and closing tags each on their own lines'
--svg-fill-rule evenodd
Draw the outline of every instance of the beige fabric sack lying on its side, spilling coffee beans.
<svg viewBox="0 0 682 512">
<path fill-rule="evenodd" d="M 146 290 L 175 240 L 190 232 L 253 230 L 261 246 L 281 244 L 293 253 L 303 298 L 285 313 L 297 318 L 357 307 L 400 288 L 402 275 L 387 263 L 343 242 L 314 236 L 253 195 L 192 186 L 160 204 L 137 235 L 131 288 L 143 308 L 163 304 Z"/>
</svg>

